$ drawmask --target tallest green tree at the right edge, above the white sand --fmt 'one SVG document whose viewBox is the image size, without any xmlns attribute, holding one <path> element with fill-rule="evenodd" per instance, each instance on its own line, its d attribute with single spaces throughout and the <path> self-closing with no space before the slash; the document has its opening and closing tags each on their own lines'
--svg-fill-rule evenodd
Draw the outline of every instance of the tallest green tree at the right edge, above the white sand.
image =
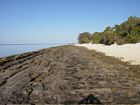
<svg viewBox="0 0 140 105">
<path fill-rule="evenodd" d="M 124 40 L 124 43 L 140 42 L 140 18 L 130 16 L 127 21 L 116 28 L 116 33 L 121 40 Z"/>
</svg>

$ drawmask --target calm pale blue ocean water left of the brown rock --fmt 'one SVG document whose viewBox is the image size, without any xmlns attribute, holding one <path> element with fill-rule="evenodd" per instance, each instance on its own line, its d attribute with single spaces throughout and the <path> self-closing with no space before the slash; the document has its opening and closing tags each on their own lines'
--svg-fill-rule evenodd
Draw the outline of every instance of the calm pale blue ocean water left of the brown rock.
<svg viewBox="0 0 140 105">
<path fill-rule="evenodd" d="M 0 58 L 14 55 L 14 54 L 21 54 L 29 51 L 37 51 L 44 48 L 50 48 L 55 46 L 60 46 L 64 44 L 16 44 L 16 45 L 0 45 Z"/>
</svg>

